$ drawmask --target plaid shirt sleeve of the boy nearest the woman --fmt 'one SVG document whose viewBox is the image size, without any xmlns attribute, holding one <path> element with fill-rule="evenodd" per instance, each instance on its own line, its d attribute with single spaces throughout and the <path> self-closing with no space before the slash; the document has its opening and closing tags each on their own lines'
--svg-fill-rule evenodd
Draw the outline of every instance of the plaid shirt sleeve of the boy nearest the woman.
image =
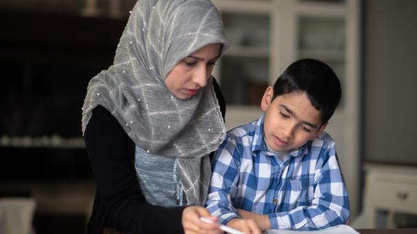
<svg viewBox="0 0 417 234">
<path fill-rule="evenodd" d="M 233 218 L 241 218 L 231 200 L 237 194 L 239 165 L 236 143 L 228 137 L 215 153 L 206 201 L 208 212 L 217 216 L 222 224 L 227 224 Z"/>
</svg>

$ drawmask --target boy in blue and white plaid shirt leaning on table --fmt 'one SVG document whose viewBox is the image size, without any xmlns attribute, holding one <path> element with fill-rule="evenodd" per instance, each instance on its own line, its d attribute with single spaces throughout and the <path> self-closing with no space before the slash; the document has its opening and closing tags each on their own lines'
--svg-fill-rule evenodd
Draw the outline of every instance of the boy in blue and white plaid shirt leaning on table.
<svg viewBox="0 0 417 234">
<path fill-rule="evenodd" d="M 318 60 L 298 60 L 268 87 L 264 114 L 228 132 L 215 153 L 206 207 L 241 231 L 344 224 L 348 195 L 335 142 L 324 132 L 341 96 Z"/>
</svg>

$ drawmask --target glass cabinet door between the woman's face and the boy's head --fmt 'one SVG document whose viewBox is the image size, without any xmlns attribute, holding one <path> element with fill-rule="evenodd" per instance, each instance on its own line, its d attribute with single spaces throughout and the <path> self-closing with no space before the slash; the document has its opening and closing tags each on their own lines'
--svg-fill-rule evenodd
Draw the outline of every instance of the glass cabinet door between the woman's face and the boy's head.
<svg viewBox="0 0 417 234">
<path fill-rule="evenodd" d="M 269 79 L 270 16 L 222 14 L 230 49 L 219 64 L 227 105 L 259 105 Z"/>
</svg>

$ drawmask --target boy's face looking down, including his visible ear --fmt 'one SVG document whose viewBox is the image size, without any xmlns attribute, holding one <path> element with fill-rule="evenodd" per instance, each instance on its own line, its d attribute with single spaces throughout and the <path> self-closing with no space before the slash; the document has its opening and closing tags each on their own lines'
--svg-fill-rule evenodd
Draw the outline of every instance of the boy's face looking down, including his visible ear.
<svg viewBox="0 0 417 234">
<path fill-rule="evenodd" d="M 291 92 L 276 96 L 268 87 L 263 94 L 261 108 L 265 111 L 263 131 L 266 143 L 274 151 L 291 151 L 316 138 L 322 125 L 321 113 L 311 105 L 305 92 Z"/>
</svg>

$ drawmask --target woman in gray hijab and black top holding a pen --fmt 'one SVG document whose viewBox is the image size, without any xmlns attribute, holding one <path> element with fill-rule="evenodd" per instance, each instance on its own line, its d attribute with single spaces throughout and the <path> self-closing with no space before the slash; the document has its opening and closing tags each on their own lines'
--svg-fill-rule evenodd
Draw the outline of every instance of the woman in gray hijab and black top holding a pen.
<svg viewBox="0 0 417 234">
<path fill-rule="evenodd" d="M 82 130 L 97 181 L 88 233 L 220 233 L 200 205 L 208 154 L 226 133 L 211 77 L 226 48 L 211 1 L 136 3 L 114 64 L 91 79 L 84 100 Z"/>
</svg>

